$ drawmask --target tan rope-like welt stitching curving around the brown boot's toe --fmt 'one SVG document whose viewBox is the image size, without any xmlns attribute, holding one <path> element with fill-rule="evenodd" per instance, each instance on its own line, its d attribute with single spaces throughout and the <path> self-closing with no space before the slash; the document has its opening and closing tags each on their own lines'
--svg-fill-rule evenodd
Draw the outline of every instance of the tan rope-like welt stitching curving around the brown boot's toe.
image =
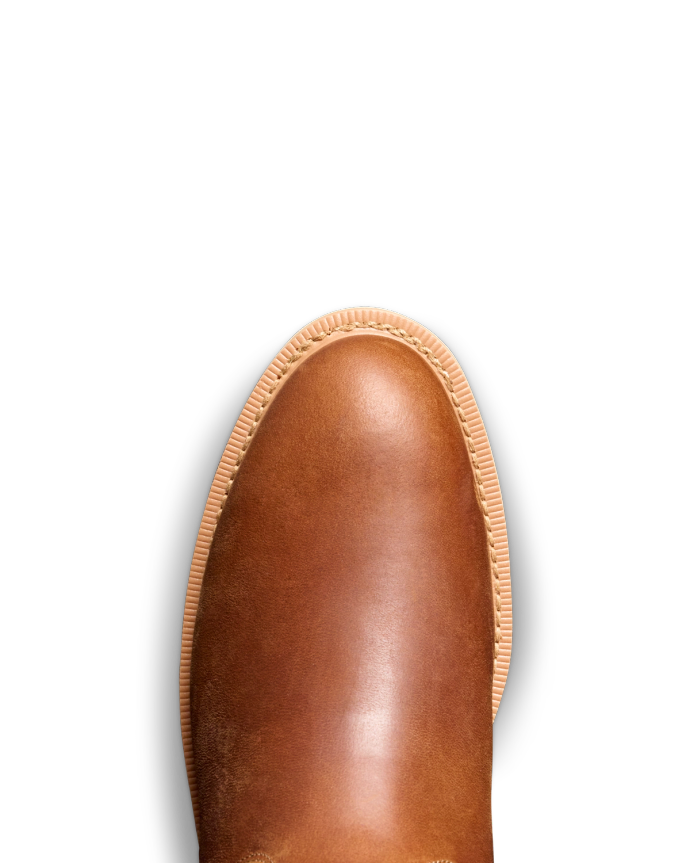
<svg viewBox="0 0 690 863">
<path fill-rule="evenodd" d="M 242 447 L 237 454 L 237 458 L 235 460 L 235 464 L 230 471 L 230 479 L 228 480 L 228 484 L 225 488 L 225 493 L 223 494 L 220 500 L 220 507 L 218 512 L 216 513 L 216 524 L 220 519 L 220 514 L 223 511 L 223 507 L 225 506 L 225 501 L 228 499 L 228 492 L 230 491 L 230 486 L 233 483 L 233 480 L 237 476 L 237 471 L 239 470 L 240 464 L 242 463 L 242 459 L 244 458 L 244 454 L 247 451 L 247 447 L 251 442 L 252 435 L 256 431 L 256 427 L 259 424 L 259 420 L 266 409 L 266 406 L 275 392 L 276 387 L 280 383 L 281 379 L 290 371 L 292 365 L 297 362 L 300 357 L 305 354 L 311 346 L 315 342 L 320 342 L 322 339 L 327 338 L 333 333 L 348 333 L 355 329 L 373 329 L 373 330 L 385 330 L 385 332 L 390 333 L 393 336 L 397 336 L 399 339 L 402 339 L 404 342 L 407 342 L 409 345 L 417 348 L 417 350 L 422 354 L 432 366 L 436 369 L 438 374 L 441 377 L 441 380 L 446 386 L 446 389 L 450 393 L 451 401 L 453 402 L 453 406 L 455 407 L 458 418 L 460 419 L 460 426 L 465 433 L 467 448 L 470 451 L 470 459 L 472 460 L 472 467 L 474 468 L 474 479 L 475 485 L 477 488 L 477 494 L 479 496 L 479 500 L 481 503 L 482 511 L 484 513 L 484 523 L 486 525 L 487 537 L 489 540 L 489 554 L 491 557 L 491 569 L 494 576 L 494 606 L 495 606 L 495 634 L 494 634 L 494 673 L 496 671 L 496 662 L 498 657 L 498 646 L 501 642 L 501 586 L 500 586 L 500 573 L 498 571 L 498 560 L 496 557 L 496 543 L 493 536 L 493 531 L 491 529 L 491 518 L 489 516 L 489 510 L 486 505 L 486 495 L 484 494 L 483 482 L 482 482 L 482 474 L 479 469 L 479 462 L 477 461 L 476 450 L 474 446 L 474 441 L 472 440 L 472 432 L 470 431 L 470 427 L 467 424 L 467 418 L 460 407 L 460 402 L 458 401 L 458 397 L 455 394 L 455 388 L 453 387 L 453 381 L 450 378 L 448 372 L 443 368 L 443 364 L 435 356 L 434 352 L 427 348 L 420 339 L 415 336 L 411 336 L 406 330 L 400 329 L 398 327 L 394 327 L 391 324 L 381 324 L 377 321 L 353 321 L 350 324 L 342 324 L 339 327 L 329 327 L 327 330 L 322 330 L 320 333 L 317 333 L 315 336 L 307 339 L 303 342 L 295 351 L 294 354 L 291 354 L 286 360 L 285 364 L 281 366 L 276 376 L 276 379 L 273 381 L 271 386 L 268 388 L 268 392 L 263 398 L 261 405 L 259 406 L 258 411 L 254 417 L 254 421 L 247 431 L 247 436 L 244 439 Z M 215 526 L 214 526 L 215 531 Z M 240 861 L 242 863 L 242 861 Z M 447 861 L 435 861 L 435 863 L 447 863 Z"/>
</svg>

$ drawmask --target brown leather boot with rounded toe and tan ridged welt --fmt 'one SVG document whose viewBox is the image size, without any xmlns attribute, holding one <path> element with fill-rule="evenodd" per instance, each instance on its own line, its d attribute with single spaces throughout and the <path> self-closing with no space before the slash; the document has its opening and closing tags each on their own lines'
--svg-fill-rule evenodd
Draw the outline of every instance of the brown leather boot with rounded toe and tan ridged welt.
<svg viewBox="0 0 690 863">
<path fill-rule="evenodd" d="M 242 412 L 194 555 L 180 680 L 202 863 L 490 863 L 509 600 L 452 354 L 385 309 L 309 324 Z"/>
</svg>

